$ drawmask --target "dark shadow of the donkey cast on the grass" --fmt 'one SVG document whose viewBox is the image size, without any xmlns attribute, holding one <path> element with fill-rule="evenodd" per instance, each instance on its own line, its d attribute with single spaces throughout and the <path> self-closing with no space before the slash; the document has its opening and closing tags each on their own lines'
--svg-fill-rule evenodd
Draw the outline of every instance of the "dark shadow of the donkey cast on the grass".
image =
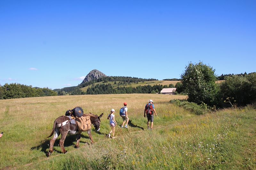
<svg viewBox="0 0 256 170">
<path fill-rule="evenodd" d="M 60 135 L 61 136 L 61 135 Z M 90 139 L 88 136 L 84 136 L 83 134 L 81 134 L 81 138 L 86 138 L 86 139 Z M 44 140 L 44 142 L 42 142 L 42 144 L 38 145 L 38 146 L 33 146 L 32 148 L 30 148 L 31 150 L 40 150 L 41 152 L 44 152 L 45 154 L 47 154 L 47 149 L 49 149 L 50 147 L 50 139 Z M 72 146 L 74 145 L 74 142 L 76 143 L 76 135 L 68 135 L 65 139 L 64 142 L 64 147 L 68 147 L 68 146 Z M 53 146 L 59 146 L 60 143 L 60 137 L 58 139 L 56 139 L 56 141 L 54 142 Z M 88 142 L 83 142 L 80 140 L 80 143 L 85 143 L 85 144 L 89 144 Z M 74 145 L 75 146 L 75 145 Z M 57 151 L 54 149 L 54 151 L 58 152 L 58 153 L 62 153 L 60 151 Z"/>
</svg>

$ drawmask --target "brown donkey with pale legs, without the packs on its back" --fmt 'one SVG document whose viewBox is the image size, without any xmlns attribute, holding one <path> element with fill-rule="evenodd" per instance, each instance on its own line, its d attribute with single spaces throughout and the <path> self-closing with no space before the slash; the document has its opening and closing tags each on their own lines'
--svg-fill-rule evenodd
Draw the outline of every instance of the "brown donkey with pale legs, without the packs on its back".
<svg viewBox="0 0 256 170">
<path fill-rule="evenodd" d="M 97 131 L 100 131 L 100 118 L 103 116 L 103 113 L 100 116 L 93 115 L 91 113 L 90 114 L 84 114 L 84 115 L 85 116 L 90 116 L 91 123 L 94 125 L 94 127 Z M 62 124 L 62 126 L 61 127 L 56 127 L 56 125 L 58 125 L 58 124 Z M 52 128 L 51 135 L 48 136 L 48 137 L 51 137 L 54 134 L 53 138 L 50 140 L 50 149 L 49 149 L 49 152 L 47 153 L 47 156 L 50 156 L 52 154 L 53 144 L 54 144 L 55 140 L 58 138 L 58 136 L 60 134 L 61 134 L 60 148 L 61 148 L 62 153 L 67 152 L 64 148 L 64 141 L 65 141 L 68 134 L 70 134 L 70 135 L 76 135 L 77 134 L 76 148 L 79 148 L 79 141 L 80 141 L 80 138 L 81 138 L 81 133 L 82 133 L 82 131 L 78 131 L 76 129 L 76 124 L 70 124 L 70 120 L 67 116 L 58 117 L 53 123 L 53 128 Z M 91 143 L 93 144 L 91 129 L 87 130 L 87 133 L 88 133 L 88 135 L 91 139 Z"/>
</svg>

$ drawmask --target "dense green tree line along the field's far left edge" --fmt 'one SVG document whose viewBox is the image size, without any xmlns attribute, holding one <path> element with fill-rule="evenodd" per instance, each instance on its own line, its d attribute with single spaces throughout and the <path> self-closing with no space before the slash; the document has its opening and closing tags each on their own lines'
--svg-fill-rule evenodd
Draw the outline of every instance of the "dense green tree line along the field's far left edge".
<svg viewBox="0 0 256 170">
<path fill-rule="evenodd" d="M 39 88 L 31 85 L 21 85 L 16 83 L 0 85 L 0 99 L 16 99 L 26 97 L 43 97 L 43 96 L 57 96 L 55 92 L 48 87 Z"/>
</svg>

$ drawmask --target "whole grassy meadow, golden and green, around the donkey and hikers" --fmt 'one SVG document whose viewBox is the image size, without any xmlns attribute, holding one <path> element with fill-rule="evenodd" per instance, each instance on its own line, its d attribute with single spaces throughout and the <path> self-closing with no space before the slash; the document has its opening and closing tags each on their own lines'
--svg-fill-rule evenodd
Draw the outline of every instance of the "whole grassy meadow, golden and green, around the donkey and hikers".
<svg viewBox="0 0 256 170">
<path fill-rule="evenodd" d="M 171 104 L 181 95 L 105 94 L 0 100 L 0 169 L 256 169 L 255 107 L 223 109 L 195 115 Z M 154 129 L 147 130 L 144 107 L 154 100 Z M 129 129 L 121 129 L 119 109 L 127 102 Z M 56 140 L 50 157 L 46 138 L 54 120 L 80 106 L 100 115 L 100 133 L 92 128 L 94 144 L 82 133 L 67 136 L 60 153 Z M 109 139 L 107 116 L 116 110 L 116 138 Z"/>
</svg>

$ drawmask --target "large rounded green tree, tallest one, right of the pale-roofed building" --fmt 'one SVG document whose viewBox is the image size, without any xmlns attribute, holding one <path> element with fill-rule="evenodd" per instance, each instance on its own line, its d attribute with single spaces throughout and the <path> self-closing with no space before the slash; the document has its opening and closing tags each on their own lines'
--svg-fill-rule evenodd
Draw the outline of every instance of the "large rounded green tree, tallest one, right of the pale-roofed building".
<svg viewBox="0 0 256 170">
<path fill-rule="evenodd" d="M 202 62 L 189 63 L 181 74 L 182 86 L 188 94 L 188 101 L 209 106 L 217 105 L 218 87 L 212 67 Z"/>
</svg>

